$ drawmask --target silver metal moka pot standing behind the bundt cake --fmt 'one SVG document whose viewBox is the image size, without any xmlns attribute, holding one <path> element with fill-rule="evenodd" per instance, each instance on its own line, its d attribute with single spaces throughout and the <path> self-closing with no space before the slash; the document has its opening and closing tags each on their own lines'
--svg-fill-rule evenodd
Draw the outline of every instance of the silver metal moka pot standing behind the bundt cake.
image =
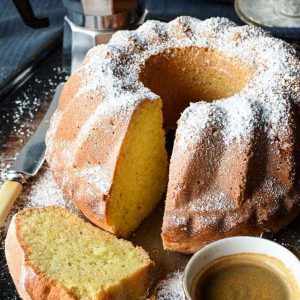
<svg viewBox="0 0 300 300">
<path fill-rule="evenodd" d="M 74 72 L 87 51 L 106 44 L 119 29 L 139 23 L 138 0 L 62 0 L 64 19 L 63 67 Z"/>
</svg>

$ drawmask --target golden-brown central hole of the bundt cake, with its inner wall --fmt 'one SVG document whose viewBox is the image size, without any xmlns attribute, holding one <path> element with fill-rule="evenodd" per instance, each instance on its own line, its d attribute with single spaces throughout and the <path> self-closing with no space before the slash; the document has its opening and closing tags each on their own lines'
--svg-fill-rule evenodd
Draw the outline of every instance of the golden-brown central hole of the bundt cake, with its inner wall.
<svg viewBox="0 0 300 300">
<path fill-rule="evenodd" d="M 230 97 L 250 81 L 253 68 L 217 50 L 167 49 L 148 58 L 140 80 L 163 100 L 164 127 L 175 129 L 191 102 Z"/>
</svg>

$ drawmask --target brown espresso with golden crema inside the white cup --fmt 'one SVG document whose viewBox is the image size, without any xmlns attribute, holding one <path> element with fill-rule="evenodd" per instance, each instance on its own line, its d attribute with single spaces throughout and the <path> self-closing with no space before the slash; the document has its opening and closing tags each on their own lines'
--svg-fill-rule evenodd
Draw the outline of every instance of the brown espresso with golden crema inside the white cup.
<svg viewBox="0 0 300 300">
<path fill-rule="evenodd" d="M 194 300 L 298 300 L 295 278 L 279 260 L 235 254 L 211 262 L 193 280 Z"/>
</svg>

